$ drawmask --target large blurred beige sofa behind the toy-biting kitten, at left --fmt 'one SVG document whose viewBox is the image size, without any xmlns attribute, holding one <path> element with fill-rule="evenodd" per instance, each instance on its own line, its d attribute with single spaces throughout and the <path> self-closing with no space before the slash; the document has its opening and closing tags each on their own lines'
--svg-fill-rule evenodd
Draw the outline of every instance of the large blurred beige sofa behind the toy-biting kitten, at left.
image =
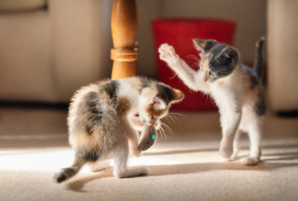
<svg viewBox="0 0 298 201">
<path fill-rule="evenodd" d="M 0 101 L 69 101 L 111 74 L 111 0 L 0 0 Z"/>
</svg>

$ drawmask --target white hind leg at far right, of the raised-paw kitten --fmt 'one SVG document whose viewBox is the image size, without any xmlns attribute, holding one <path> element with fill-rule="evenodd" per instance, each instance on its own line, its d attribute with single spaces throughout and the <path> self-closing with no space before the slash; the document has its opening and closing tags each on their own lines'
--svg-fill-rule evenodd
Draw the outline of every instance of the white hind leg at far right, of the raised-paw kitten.
<svg viewBox="0 0 298 201">
<path fill-rule="evenodd" d="M 248 166 L 257 165 L 260 162 L 261 156 L 261 135 L 260 125 L 253 123 L 248 128 L 248 135 L 250 139 L 250 155 L 243 159 L 243 164 Z"/>
</svg>

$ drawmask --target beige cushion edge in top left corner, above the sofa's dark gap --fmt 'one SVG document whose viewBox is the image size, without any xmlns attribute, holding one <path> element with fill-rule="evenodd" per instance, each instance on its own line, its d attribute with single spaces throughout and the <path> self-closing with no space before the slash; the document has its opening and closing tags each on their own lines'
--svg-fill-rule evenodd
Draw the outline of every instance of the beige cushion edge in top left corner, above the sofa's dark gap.
<svg viewBox="0 0 298 201">
<path fill-rule="evenodd" d="M 33 10 L 46 4 L 46 0 L 0 0 L 0 12 Z"/>
</svg>

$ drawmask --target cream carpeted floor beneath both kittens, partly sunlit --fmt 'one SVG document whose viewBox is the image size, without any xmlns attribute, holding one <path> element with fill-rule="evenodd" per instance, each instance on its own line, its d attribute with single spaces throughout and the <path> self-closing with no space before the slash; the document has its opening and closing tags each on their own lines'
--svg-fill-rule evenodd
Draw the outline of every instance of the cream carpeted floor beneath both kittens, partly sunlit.
<svg viewBox="0 0 298 201">
<path fill-rule="evenodd" d="M 266 117 L 262 162 L 242 165 L 249 141 L 234 162 L 219 157 L 217 112 L 181 112 L 174 134 L 158 141 L 130 166 L 145 165 L 146 176 L 117 179 L 112 168 L 90 173 L 87 167 L 62 184 L 54 173 L 71 165 L 66 111 L 0 109 L 0 200 L 298 200 L 298 119 Z"/>
</svg>

